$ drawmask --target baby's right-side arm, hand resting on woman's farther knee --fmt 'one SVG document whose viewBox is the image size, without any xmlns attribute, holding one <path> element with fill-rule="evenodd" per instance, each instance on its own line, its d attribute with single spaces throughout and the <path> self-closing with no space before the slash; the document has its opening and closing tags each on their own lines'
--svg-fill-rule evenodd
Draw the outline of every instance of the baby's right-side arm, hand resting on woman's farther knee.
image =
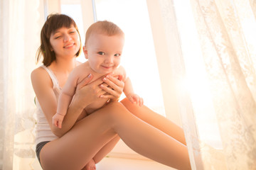
<svg viewBox="0 0 256 170">
<path fill-rule="evenodd" d="M 124 72 L 124 77 L 126 77 L 126 73 L 124 69 L 123 69 L 123 72 Z M 144 103 L 143 98 L 139 97 L 137 94 L 134 94 L 132 81 L 131 79 L 129 79 L 129 77 L 126 77 L 126 79 L 124 79 L 124 94 L 132 103 L 136 103 L 139 106 L 143 105 Z"/>
</svg>

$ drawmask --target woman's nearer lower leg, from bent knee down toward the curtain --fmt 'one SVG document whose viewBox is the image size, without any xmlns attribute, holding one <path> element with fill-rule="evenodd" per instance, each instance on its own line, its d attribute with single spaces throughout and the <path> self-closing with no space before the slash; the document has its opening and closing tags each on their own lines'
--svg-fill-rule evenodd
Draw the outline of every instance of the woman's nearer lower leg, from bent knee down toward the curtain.
<svg viewBox="0 0 256 170">
<path fill-rule="evenodd" d="M 135 152 L 176 169 L 191 169 L 188 150 L 181 142 L 130 112 L 127 114 L 123 111 L 114 116 L 118 120 L 115 121 L 114 130 Z"/>
</svg>

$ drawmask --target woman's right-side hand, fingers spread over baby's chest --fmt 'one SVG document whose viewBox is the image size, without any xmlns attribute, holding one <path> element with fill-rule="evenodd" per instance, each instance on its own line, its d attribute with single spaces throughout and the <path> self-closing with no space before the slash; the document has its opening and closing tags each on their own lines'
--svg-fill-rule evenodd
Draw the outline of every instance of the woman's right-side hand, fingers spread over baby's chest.
<svg viewBox="0 0 256 170">
<path fill-rule="evenodd" d="M 100 84 L 100 88 L 104 90 L 106 93 L 102 94 L 100 98 L 111 98 L 112 101 L 118 101 L 119 97 L 124 90 L 124 81 L 122 81 L 124 77 L 119 75 L 118 77 L 112 77 L 112 75 L 107 75 L 102 80 L 105 82 L 104 84 Z"/>
</svg>

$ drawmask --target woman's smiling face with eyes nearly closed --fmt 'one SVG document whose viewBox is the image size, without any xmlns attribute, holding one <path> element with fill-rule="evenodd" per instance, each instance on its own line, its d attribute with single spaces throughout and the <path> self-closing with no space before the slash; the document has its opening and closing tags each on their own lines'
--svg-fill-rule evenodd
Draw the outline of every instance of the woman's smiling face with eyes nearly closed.
<svg viewBox="0 0 256 170">
<path fill-rule="evenodd" d="M 51 50 L 58 57 L 74 57 L 80 49 L 80 38 L 74 26 L 59 28 L 50 35 Z"/>
</svg>

